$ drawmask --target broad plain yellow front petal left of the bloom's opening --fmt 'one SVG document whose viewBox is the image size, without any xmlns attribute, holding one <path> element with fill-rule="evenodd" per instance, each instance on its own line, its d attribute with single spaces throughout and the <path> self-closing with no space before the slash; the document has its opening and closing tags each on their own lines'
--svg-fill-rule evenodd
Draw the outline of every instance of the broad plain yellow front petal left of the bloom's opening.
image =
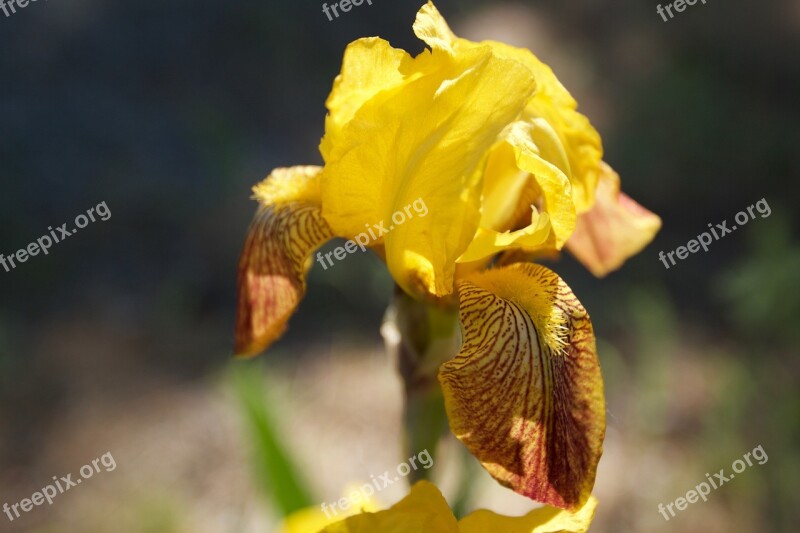
<svg viewBox="0 0 800 533">
<path fill-rule="evenodd" d="M 535 84 L 527 69 L 489 47 L 455 56 L 434 49 L 403 69 L 406 81 L 373 96 L 337 136 L 322 180 L 323 212 L 348 238 L 384 223 L 389 233 L 373 244 L 385 245 L 397 283 L 444 296 L 477 230 L 485 155 Z M 393 223 L 418 199 L 427 217 Z"/>
</svg>

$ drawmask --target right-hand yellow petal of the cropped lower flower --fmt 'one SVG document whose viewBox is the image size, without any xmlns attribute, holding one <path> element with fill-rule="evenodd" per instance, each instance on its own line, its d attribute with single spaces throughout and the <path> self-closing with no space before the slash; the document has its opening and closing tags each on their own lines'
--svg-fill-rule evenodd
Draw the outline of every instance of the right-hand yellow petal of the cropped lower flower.
<svg viewBox="0 0 800 533">
<path fill-rule="evenodd" d="M 576 512 L 554 507 L 540 507 L 525 516 L 502 516 L 481 509 L 458 522 L 461 533 L 584 533 L 594 519 L 597 499 L 592 496 Z"/>
</svg>

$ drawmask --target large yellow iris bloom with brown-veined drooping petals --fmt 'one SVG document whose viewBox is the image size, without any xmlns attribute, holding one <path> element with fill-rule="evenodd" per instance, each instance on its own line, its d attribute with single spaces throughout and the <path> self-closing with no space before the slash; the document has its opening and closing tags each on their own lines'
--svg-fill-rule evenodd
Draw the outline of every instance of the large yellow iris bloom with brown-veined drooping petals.
<svg viewBox="0 0 800 533">
<path fill-rule="evenodd" d="M 429 47 L 416 57 L 351 43 L 327 101 L 324 167 L 277 169 L 254 188 L 237 353 L 283 333 L 317 248 L 423 199 L 427 216 L 369 246 L 409 295 L 458 302 L 463 344 L 439 371 L 451 429 L 501 484 L 578 509 L 605 434 L 591 321 L 554 272 L 514 261 L 566 246 L 602 276 L 660 219 L 620 191 L 599 135 L 530 51 L 460 39 L 430 2 L 414 31 Z"/>
</svg>

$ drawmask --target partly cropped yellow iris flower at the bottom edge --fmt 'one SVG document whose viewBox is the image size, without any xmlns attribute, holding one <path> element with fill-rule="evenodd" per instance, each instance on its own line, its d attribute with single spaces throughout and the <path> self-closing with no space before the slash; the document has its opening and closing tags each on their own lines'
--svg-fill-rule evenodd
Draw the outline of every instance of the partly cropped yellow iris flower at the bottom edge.
<svg viewBox="0 0 800 533">
<path fill-rule="evenodd" d="M 419 481 L 408 496 L 385 511 L 371 507 L 337 519 L 326 517 L 318 508 L 304 509 L 286 520 L 281 533 L 583 533 L 596 507 L 592 497 L 574 513 L 545 506 L 511 517 L 482 509 L 456 520 L 439 489 Z"/>
</svg>

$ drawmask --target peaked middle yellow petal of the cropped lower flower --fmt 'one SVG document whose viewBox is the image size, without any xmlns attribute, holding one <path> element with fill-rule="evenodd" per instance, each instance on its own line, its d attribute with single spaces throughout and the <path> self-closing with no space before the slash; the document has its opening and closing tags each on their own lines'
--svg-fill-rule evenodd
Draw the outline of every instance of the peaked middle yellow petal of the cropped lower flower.
<svg viewBox="0 0 800 533">
<path fill-rule="evenodd" d="M 326 527 L 324 533 L 458 533 L 458 523 L 442 493 L 418 481 L 408 496 L 386 511 L 362 513 Z"/>
</svg>

